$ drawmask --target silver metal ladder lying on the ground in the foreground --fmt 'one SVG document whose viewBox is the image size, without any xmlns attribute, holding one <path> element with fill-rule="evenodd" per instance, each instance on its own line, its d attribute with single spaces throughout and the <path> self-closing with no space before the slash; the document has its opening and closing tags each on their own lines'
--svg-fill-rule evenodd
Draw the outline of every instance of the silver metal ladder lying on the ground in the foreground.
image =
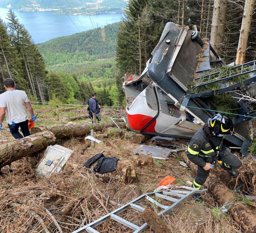
<svg viewBox="0 0 256 233">
<path fill-rule="evenodd" d="M 146 200 L 152 202 L 154 205 L 163 209 L 161 212 L 158 213 L 158 216 L 161 217 L 163 214 L 172 211 L 172 209 L 174 209 L 177 205 L 181 204 L 181 202 L 186 200 L 191 195 L 193 195 L 195 193 L 203 193 L 206 190 L 207 189 L 196 190 L 196 189 L 188 187 L 188 186 L 180 186 L 179 190 L 172 189 L 172 190 L 161 191 L 161 192 L 157 192 L 157 193 L 146 193 L 146 194 L 143 194 L 143 195 L 137 197 L 136 199 L 132 200 L 131 202 L 121 206 L 120 208 L 112 211 L 111 213 L 108 213 L 107 215 L 95 220 L 94 222 L 89 223 L 88 225 L 83 226 L 78 230 L 75 230 L 72 233 L 78 233 L 78 232 L 100 233 L 97 230 L 95 230 L 94 227 L 100 225 L 101 223 L 103 223 L 109 219 L 113 219 L 116 222 L 129 227 L 130 229 L 134 230 L 134 233 L 139 233 L 149 227 L 147 223 L 144 223 L 141 226 L 137 226 L 134 223 L 131 223 L 131 222 L 121 218 L 120 216 L 118 216 L 118 214 L 128 208 L 132 208 L 132 209 L 135 209 L 136 211 L 143 212 L 145 210 L 145 208 L 140 205 L 137 205 L 137 204 L 138 204 L 138 202 L 140 202 L 140 201 L 144 200 L 144 198 L 146 198 Z M 158 201 L 154 200 L 152 198 L 152 196 L 162 198 L 164 200 L 168 200 L 168 201 L 171 201 L 174 203 L 170 206 L 162 205 Z M 180 199 L 177 199 L 174 197 L 180 197 Z"/>
</svg>

